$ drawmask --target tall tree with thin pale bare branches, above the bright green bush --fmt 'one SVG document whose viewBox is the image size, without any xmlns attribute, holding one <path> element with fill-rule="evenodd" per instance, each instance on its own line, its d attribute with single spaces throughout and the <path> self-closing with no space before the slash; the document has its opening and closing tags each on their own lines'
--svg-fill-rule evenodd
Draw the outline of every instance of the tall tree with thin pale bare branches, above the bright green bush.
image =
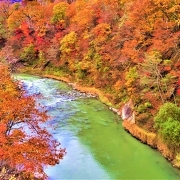
<svg viewBox="0 0 180 180">
<path fill-rule="evenodd" d="M 172 65 L 171 61 L 162 60 L 162 56 L 157 51 L 152 51 L 146 55 L 146 59 L 141 63 L 141 84 L 144 88 L 151 89 L 154 100 L 164 104 L 171 96 L 174 96 L 174 83 L 177 77 L 171 75 L 164 69 L 165 66 Z"/>
</svg>

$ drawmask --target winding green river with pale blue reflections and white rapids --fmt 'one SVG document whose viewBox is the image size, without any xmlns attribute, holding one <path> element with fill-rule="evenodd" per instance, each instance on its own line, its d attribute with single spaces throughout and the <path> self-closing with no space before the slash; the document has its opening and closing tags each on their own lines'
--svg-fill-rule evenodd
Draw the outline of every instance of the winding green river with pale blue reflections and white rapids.
<svg viewBox="0 0 180 180">
<path fill-rule="evenodd" d="M 96 98 L 57 80 L 14 76 L 28 94 L 37 95 L 36 101 L 51 116 L 47 127 L 66 148 L 60 164 L 45 169 L 49 180 L 180 179 L 177 169 L 159 152 L 128 134 L 121 119 Z"/>
</svg>

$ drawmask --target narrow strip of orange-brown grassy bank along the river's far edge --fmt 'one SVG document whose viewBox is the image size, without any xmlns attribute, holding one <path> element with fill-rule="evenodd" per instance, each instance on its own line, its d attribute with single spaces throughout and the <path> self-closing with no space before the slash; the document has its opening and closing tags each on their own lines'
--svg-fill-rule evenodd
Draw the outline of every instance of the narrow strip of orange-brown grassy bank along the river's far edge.
<svg viewBox="0 0 180 180">
<path fill-rule="evenodd" d="M 31 72 L 28 71 L 28 73 Z M 31 74 L 36 74 L 36 73 L 31 73 Z M 99 100 L 102 103 L 109 106 L 110 110 L 121 116 L 121 109 L 114 108 L 112 103 L 106 97 L 106 95 L 99 89 L 96 89 L 94 87 L 80 86 L 78 83 L 74 83 L 69 78 L 63 76 L 60 77 L 53 74 L 44 74 L 42 72 L 40 73 L 40 76 L 66 82 L 70 86 L 72 86 L 73 89 L 76 89 L 80 92 L 85 92 L 95 95 L 97 98 L 99 98 Z M 163 141 L 157 134 L 148 132 L 140 128 L 137 124 L 131 123 L 127 120 L 122 122 L 122 126 L 128 133 L 130 133 L 136 139 L 140 140 L 142 143 L 149 145 L 153 149 L 157 149 L 163 155 L 164 158 L 166 158 L 168 161 L 171 162 L 171 164 L 174 167 L 180 169 L 179 156 L 176 154 L 176 152 L 172 151 L 172 149 L 170 149 L 165 143 L 163 143 Z"/>
</svg>

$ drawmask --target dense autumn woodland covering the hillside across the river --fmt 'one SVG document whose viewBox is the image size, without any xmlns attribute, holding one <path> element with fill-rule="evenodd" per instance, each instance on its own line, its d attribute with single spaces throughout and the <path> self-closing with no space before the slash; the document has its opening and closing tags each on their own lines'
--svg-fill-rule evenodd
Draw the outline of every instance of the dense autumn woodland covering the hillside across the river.
<svg viewBox="0 0 180 180">
<path fill-rule="evenodd" d="M 131 101 L 135 123 L 180 153 L 180 0 L 2 1 L 0 62 Z"/>
</svg>

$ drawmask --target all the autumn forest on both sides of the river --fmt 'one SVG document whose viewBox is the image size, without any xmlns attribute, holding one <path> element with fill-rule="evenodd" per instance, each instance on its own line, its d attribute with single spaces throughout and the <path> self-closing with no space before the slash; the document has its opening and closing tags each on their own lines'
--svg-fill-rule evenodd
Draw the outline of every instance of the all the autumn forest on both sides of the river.
<svg viewBox="0 0 180 180">
<path fill-rule="evenodd" d="M 94 87 L 118 110 L 131 102 L 136 126 L 180 167 L 180 0 L 0 1 L 0 169 L 45 178 L 43 165 L 65 150 L 41 128 L 43 107 L 11 79 L 17 71 Z"/>
</svg>

